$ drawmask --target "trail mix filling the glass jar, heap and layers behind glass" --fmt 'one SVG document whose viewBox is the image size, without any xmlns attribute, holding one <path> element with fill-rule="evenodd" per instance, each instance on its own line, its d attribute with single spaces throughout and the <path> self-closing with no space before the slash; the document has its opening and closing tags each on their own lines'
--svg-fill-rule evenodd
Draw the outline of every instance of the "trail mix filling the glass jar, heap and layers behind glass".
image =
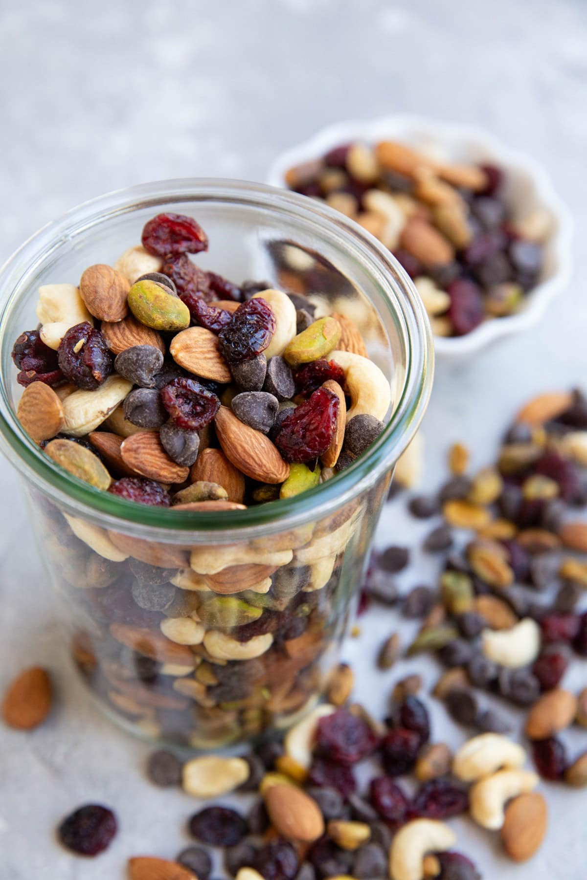
<svg viewBox="0 0 587 880">
<path fill-rule="evenodd" d="M 202 271 L 188 254 L 207 246 L 191 217 L 153 217 L 115 268 L 41 287 L 40 326 L 12 352 L 18 418 L 44 454 L 177 517 L 315 488 L 366 450 L 391 406 L 351 321 Z M 287 723 L 324 690 L 383 493 L 214 546 L 106 530 L 36 493 L 79 669 L 150 737 L 211 748 Z"/>
</svg>

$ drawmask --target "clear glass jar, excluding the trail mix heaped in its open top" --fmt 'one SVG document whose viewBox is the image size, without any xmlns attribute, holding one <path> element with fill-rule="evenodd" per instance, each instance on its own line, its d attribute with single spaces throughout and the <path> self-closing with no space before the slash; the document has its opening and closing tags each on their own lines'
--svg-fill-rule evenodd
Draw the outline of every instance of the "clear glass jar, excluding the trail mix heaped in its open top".
<svg viewBox="0 0 587 880">
<path fill-rule="evenodd" d="M 140 242 L 161 211 L 209 235 L 198 264 L 311 294 L 361 330 L 393 413 L 370 449 L 317 488 L 247 510 L 149 507 L 72 477 L 26 436 L 11 347 L 44 283 L 77 283 Z M 287 727 L 319 700 L 361 583 L 393 466 L 426 408 L 429 322 L 375 238 L 311 199 L 238 181 L 171 180 L 108 194 L 48 224 L 0 273 L 0 434 L 62 598 L 72 656 L 116 721 L 211 749 Z"/>
</svg>

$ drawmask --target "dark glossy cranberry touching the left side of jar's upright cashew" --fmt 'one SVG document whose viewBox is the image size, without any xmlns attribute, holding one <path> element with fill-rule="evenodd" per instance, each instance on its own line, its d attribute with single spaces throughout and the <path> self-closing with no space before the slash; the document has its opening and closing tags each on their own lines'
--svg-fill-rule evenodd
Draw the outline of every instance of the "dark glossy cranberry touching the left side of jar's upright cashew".
<svg viewBox="0 0 587 880">
<path fill-rule="evenodd" d="M 275 333 L 275 315 L 262 298 L 238 306 L 230 323 L 219 334 L 220 351 L 228 363 L 250 361 L 268 347 Z"/>
</svg>

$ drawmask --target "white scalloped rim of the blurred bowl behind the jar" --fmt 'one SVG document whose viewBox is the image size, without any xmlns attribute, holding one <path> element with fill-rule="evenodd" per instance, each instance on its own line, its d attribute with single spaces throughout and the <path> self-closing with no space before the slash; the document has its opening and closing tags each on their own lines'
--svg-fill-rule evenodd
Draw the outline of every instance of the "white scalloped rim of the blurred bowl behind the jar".
<svg viewBox="0 0 587 880">
<path fill-rule="evenodd" d="M 554 231 L 549 239 L 554 254 L 554 272 L 532 288 L 521 312 L 504 318 L 484 321 L 466 336 L 434 336 L 437 356 L 466 356 L 486 348 L 490 343 L 505 339 L 512 334 L 521 333 L 538 324 L 554 297 L 569 283 L 572 268 L 572 241 L 574 224 L 567 205 L 554 189 L 550 175 L 538 160 L 503 143 L 495 135 L 481 126 L 454 121 L 437 121 L 417 114 L 386 114 L 367 120 L 348 120 L 334 122 L 320 128 L 305 141 L 282 150 L 271 163 L 266 182 L 273 187 L 284 187 L 284 175 L 291 165 L 298 165 L 308 159 L 323 155 L 336 143 L 353 139 L 375 139 L 385 136 L 385 128 L 398 128 L 406 131 L 416 129 L 423 135 L 442 136 L 446 140 L 466 139 L 477 141 L 479 145 L 495 155 L 506 168 L 524 171 L 532 178 L 532 183 L 540 204 L 547 208 L 554 219 Z"/>
</svg>

